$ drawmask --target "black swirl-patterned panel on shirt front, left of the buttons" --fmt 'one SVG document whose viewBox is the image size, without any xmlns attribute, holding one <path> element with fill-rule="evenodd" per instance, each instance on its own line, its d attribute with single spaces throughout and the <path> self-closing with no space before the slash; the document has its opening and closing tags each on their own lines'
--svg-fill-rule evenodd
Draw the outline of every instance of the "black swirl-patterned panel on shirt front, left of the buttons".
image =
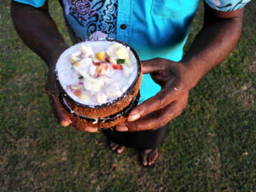
<svg viewBox="0 0 256 192">
<path fill-rule="evenodd" d="M 96 32 L 115 36 L 117 0 L 62 0 L 62 3 L 65 15 L 73 17 L 86 38 L 98 36 Z M 69 26 L 73 25 L 72 22 Z M 74 38 L 79 36 L 74 35 Z"/>
</svg>

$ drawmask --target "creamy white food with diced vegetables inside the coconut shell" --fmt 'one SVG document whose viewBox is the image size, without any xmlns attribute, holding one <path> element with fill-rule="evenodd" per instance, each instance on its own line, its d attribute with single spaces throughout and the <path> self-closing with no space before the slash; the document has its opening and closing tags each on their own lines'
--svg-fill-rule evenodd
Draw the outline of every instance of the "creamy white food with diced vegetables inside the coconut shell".
<svg viewBox="0 0 256 192">
<path fill-rule="evenodd" d="M 99 51 L 107 53 L 109 62 L 98 60 Z M 125 64 L 116 65 L 118 59 L 125 59 Z M 93 107 L 112 102 L 125 93 L 137 77 L 136 63 L 129 47 L 110 41 L 88 41 L 64 51 L 55 72 L 68 96 Z M 121 70 L 116 69 L 120 66 Z"/>
</svg>

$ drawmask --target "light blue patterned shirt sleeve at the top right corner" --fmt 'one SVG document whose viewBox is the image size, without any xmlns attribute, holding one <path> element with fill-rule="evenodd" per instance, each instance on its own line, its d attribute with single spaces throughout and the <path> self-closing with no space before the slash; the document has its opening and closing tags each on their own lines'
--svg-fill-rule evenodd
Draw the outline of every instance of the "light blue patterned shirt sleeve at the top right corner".
<svg viewBox="0 0 256 192">
<path fill-rule="evenodd" d="M 233 11 L 243 8 L 251 0 L 205 0 L 207 5 L 219 11 Z"/>
</svg>

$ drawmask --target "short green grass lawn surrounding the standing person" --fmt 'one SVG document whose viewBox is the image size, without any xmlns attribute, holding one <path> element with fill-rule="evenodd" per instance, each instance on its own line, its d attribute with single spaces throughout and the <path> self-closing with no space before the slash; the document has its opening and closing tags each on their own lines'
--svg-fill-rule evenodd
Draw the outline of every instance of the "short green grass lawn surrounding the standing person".
<svg viewBox="0 0 256 192">
<path fill-rule="evenodd" d="M 7 2 L 7 1 L 6 1 Z M 102 133 L 61 127 L 44 91 L 47 68 L 0 8 L 0 191 L 255 191 L 256 3 L 230 56 L 190 91 L 154 169 L 114 154 Z M 57 1 L 50 11 L 68 44 Z M 188 49 L 202 26 L 195 15 Z"/>
</svg>

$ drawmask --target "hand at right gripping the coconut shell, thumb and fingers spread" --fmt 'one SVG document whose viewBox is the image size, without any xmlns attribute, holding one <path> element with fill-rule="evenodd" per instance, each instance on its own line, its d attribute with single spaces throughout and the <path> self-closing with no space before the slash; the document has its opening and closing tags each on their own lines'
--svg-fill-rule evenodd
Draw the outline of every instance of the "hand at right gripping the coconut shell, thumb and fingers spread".
<svg viewBox="0 0 256 192">
<path fill-rule="evenodd" d="M 117 131 L 156 130 L 180 115 L 187 106 L 192 88 L 189 67 L 181 62 L 155 58 L 143 62 L 143 73 L 150 73 L 161 90 L 132 109 L 128 121 L 117 126 Z"/>
</svg>

